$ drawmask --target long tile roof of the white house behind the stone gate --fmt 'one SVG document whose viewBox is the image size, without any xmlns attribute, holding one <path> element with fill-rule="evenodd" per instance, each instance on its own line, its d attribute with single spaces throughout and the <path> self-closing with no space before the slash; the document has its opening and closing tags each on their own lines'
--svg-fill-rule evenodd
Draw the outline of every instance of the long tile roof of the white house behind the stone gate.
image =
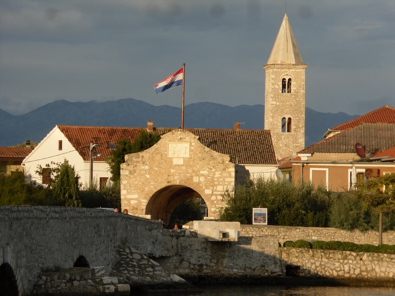
<svg viewBox="0 0 395 296">
<path fill-rule="evenodd" d="M 104 161 L 111 155 L 108 143 L 121 139 L 134 141 L 146 127 L 103 127 L 57 125 L 60 131 L 75 147 L 81 157 L 89 160 L 89 143 L 99 144 L 96 152 L 101 156 L 95 161 Z M 154 127 L 154 133 L 162 134 L 174 128 Z M 199 129 L 186 128 L 199 137 L 200 142 L 219 153 L 230 155 L 230 161 L 241 164 L 275 165 L 276 156 L 268 130 L 247 129 Z"/>
</svg>

